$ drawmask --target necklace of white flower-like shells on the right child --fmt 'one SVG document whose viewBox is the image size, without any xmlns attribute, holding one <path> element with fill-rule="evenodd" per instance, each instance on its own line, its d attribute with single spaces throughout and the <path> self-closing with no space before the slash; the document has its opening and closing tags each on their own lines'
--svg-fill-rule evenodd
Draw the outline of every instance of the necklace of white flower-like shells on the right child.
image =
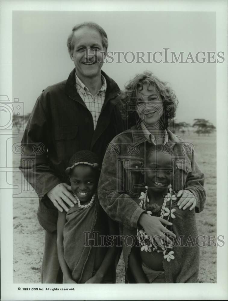
<svg viewBox="0 0 228 301">
<path fill-rule="evenodd" d="M 147 210 L 147 203 L 149 203 L 149 199 L 147 196 L 148 186 L 145 186 L 145 188 L 146 188 L 146 192 L 145 193 L 141 192 L 141 196 L 139 197 L 139 199 L 141 200 L 139 203 L 139 207 L 140 208 L 144 207 L 144 209 Z M 160 214 L 161 218 L 167 217 L 167 221 L 169 219 L 171 220 L 175 218 L 175 215 L 173 213 L 176 211 L 176 209 L 174 208 L 172 209 L 172 200 L 173 201 L 176 200 L 176 195 L 173 193 L 171 184 L 168 186 L 168 189 L 169 189 L 169 193 L 164 197 L 164 202 L 161 206 L 161 214 Z M 170 202 L 169 208 L 166 207 L 167 202 Z M 147 214 L 152 215 L 152 212 L 147 211 Z M 165 226 L 165 228 L 167 228 L 167 225 Z M 171 259 L 175 258 L 173 256 L 174 252 L 172 250 L 173 247 L 171 244 L 167 244 L 162 238 L 160 238 L 161 244 L 163 245 L 165 250 L 164 251 L 157 250 L 157 247 L 153 245 L 149 236 L 146 234 L 143 228 L 142 229 L 137 228 L 137 239 L 139 240 L 139 244 L 141 244 L 142 246 L 141 251 L 151 252 L 156 250 L 156 252 L 158 253 L 163 252 L 164 259 L 167 259 L 168 262 L 170 262 Z"/>
</svg>

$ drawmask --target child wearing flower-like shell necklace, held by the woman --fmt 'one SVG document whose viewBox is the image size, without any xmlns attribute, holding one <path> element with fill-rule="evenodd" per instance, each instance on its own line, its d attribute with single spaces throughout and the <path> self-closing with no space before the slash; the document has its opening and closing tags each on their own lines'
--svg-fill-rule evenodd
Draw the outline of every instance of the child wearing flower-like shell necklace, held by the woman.
<svg viewBox="0 0 228 301">
<path fill-rule="evenodd" d="M 160 147 L 160 148 L 159 148 Z M 190 209 L 178 207 L 180 175 L 176 175 L 176 159 L 171 160 L 161 146 L 148 150 L 145 173 L 146 191 L 139 197 L 139 206 L 151 216 L 158 216 L 171 222 L 166 226 L 176 238 L 173 244 L 155 237 L 150 239 L 143 228 L 137 229 L 136 244 L 132 248 L 123 245 L 128 253 L 130 282 L 136 283 L 185 283 L 197 282 L 199 269 L 199 248 L 196 241 L 197 228 L 194 204 Z M 174 169 L 174 170 L 173 170 Z M 128 250 L 126 250 L 128 249 Z"/>
</svg>

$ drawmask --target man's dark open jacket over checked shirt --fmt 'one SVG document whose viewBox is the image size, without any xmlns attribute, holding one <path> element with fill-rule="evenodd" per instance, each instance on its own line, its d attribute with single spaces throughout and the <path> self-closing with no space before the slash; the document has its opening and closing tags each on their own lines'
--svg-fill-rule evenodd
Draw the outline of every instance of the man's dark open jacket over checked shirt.
<svg viewBox="0 0 228 301">
<path fill-rule="evenodd" d="M 107 144 L 124 128 L 119 113 L 120 89 L 103 71 L 107 82 L 105 101 L 94 130 L 92 114 L 75 85 L 75 69 L 67 80 L 46 88 L 36 101 L 21 144 L 20 170 L 39 195 L 38 219 L 55 231 L 58 210 L 46 196 L 65 175 L 70 157 L 80 150 L 94 151 L 102 162 Z"/>
</svg>

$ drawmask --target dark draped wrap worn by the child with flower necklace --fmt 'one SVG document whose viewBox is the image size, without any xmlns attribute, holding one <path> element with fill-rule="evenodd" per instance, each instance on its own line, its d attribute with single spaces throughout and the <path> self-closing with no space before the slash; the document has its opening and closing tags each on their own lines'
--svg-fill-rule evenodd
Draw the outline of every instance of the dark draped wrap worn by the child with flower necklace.
<svg viewBox="0 0 228 301">
<path fill-rule="evenodd" d="M 199 247 L 197 245 L 198 233 L 195 222 L 195 210 L 190 211 L 189 208 L 185 210 L 179 209 L 177 201 L 172 203 L 172 208 L 176 209 L 174 212 L 176 218 L 172 220 L 172 231 L 176 234 L 176 242 L 183 235 L 184 246 L 180 245 L 180 240 L 179 245 L 173 247 L 175 259 L 167 262 L 163 258 L 165 278 L 167 283 L 196 283 L 199 272 Z M 123 227 L 123 236 L 128 237 L 129 235 L 136 237 L 136 229 Z M 123 244 L 123 259 L 125 262 L 126 282 L 134 283 L 135 280 L 128 267 L 131 247 L 130 243 Z M 140 258 L 139 260 L 141 261 Z"/>
</svg>

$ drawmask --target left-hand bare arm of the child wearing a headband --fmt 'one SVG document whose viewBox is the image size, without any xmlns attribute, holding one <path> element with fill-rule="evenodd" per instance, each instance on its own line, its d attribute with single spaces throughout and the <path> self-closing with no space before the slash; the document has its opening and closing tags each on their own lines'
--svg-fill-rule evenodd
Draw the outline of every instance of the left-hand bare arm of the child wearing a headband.
<svg viewBox="0 0 228 301">
<path fill-rule="evenodd" d="M 66 223 L 66 212 L 58 212 L 58 222 L 57 222 L 57 250 L 58 250 L 58 260 L 61 266 L 64 279 L 67 283 L 76 283 L 72 280 L 70 275 L 69 267 L 64 259 L 64 249 L 63 249 L 63 228 Z"/>
</svg>

